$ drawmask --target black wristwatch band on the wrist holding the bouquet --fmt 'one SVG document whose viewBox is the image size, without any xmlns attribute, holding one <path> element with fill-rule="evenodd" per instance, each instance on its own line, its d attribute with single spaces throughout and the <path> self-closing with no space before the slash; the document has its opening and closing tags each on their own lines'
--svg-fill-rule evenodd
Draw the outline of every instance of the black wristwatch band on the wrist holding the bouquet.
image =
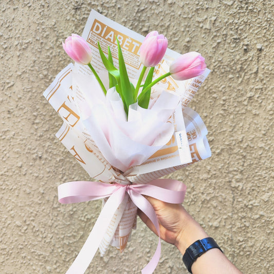
<svg viewBox="0 0 274 274">
<path fill-rule="evenodd" d="M 182 261 L 190 273 L 192 273 L 191 266 L 196 261 L 196 259 L 212 248 L 218 248 L 222 251 L 222 249 L 216 244 L 213 238 L 198 240 L 186 249 L 184 256 L 182 256 Z"/>
</svg>

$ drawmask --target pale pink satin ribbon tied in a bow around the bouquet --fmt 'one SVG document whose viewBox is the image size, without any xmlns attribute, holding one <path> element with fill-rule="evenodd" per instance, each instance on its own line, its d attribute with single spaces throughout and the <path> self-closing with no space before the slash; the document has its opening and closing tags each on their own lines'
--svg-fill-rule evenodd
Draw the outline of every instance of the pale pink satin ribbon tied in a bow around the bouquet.
<svg viewBox="0 0 274 274">
<path fill-rule="evenodd" d="M 180 204 L 184 201 L 185 193 L 186 186 L 180 181 L 171 179 L 157 179 L 145 185 L 107 184 L 97 181 L 71 181 L 60 185 L 58 187 L 58 197 L 59 202 L 62 204 L 109 197 L 86 242 L 66 274 L 82 274 L 86 271 L 124 195 L 128 194 L 133 203 L 150 218 L 159 236 L 160 230 L 156 213 L 148 200 L 142 195 L 151 196 L 171 204 Z M 156 251 L 151 261 L 141 270 L 142 274 L 151 274 L 155 270 L 160 259 L 160 253 L 159 236 Z"/>
</svg>

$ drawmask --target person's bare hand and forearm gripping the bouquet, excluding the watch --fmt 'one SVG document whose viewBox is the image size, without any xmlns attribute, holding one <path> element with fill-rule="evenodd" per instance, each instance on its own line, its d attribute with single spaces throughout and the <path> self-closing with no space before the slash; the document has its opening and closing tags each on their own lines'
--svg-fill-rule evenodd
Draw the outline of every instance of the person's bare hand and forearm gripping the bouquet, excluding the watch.
<svg viewBox="0 0 274 274">
<path fill-rule="evenodd" d="M 152 197 L 146 197 L 155 210 L 162 240 L 175 245 L 181 254 L 196 242 L 208 237 L 204 229 L 189 215 L 181 204 L 169 204 Z M 155 233 L 150 219 L 138 209 L 141 220 Z M 210 249 L 194 261 L 193 274 L 242 274 L 217 248 Z"/>
</svg>

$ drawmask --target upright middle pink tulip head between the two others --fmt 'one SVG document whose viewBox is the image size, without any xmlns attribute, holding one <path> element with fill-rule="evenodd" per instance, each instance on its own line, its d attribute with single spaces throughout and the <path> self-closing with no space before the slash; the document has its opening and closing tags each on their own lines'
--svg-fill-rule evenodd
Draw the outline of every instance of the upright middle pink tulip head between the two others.
<svg viewBox="0 0 274 274">
<path fill-rule="evenodd" d="M 158 31 L 151 31 L 140 47 L 140 61 L 145 67 L 154 67 L 160 63 L 166 53 L 168 39 Z"/>
</svg>

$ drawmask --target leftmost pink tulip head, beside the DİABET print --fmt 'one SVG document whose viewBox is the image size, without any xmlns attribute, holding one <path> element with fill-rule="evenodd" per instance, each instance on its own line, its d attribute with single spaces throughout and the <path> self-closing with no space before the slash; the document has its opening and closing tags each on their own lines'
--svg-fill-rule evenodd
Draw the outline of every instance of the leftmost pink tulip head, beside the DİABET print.
<svg viewBox="0 0 274 274">
<path fill-rule="evenodd" d="M 87 42 L 77 34 L 71 34 L 63 43 L 63 48 L 67 55 L 79 64 L 87 65 L 92 61 L 92 50 Z"/>
</svg>

